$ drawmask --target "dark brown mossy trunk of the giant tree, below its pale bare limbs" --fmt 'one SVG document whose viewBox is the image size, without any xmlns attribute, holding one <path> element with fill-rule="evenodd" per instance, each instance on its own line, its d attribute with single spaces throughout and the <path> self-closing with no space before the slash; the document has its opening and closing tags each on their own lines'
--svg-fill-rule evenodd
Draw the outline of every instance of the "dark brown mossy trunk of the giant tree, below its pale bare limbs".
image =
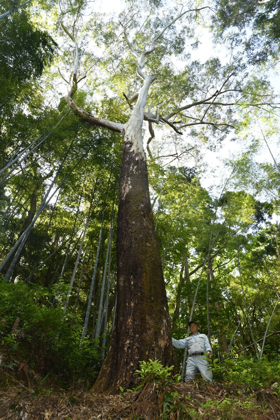
<svg viewBox="0 0 280 420">
<path fill-rule="evenodd" d="M 133 147 L 134 146 L 134 147 Z M 139 360 L 172 362 L 167 297 L 149 197 L 144 154 L 126 136 L 117 223 L 118 299 L 112 340 L 95 391 L 135 381 Z"/>
</svg>

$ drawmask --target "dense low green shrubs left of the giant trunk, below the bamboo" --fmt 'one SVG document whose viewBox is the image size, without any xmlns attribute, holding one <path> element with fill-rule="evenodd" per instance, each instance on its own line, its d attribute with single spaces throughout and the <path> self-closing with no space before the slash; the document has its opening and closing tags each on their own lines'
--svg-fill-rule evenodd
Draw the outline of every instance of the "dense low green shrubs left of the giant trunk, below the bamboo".
<svg viewBox="0 0 280 420">
<path fill-rule="evenodd" d="M 42 375 L 51 372 L 62 381 L 90 386 L 102 362 L 99 341 L 84 339 L 80 345 L 81 319 L 63 310 L 67 289 L 62 282 L 49 292 L 36 284 L 0 280 L 0 344 L 10 356 L 20 352 Z M 18 332 L 10 334 L 17 317 Z"/>
</svg>

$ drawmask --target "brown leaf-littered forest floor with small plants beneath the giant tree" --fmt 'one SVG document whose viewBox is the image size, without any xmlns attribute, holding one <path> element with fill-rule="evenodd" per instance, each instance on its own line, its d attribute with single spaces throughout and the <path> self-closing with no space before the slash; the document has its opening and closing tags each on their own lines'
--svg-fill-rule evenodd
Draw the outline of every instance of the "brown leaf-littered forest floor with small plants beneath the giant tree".
<svg viewBox="0 0 280 420">
<path fill-rule="evenodd" d="M 47 383 L 35 387 L 27 378 L 18 380 L 6 373 L 5 378 L 5 387 L 0 389 L 0 420 L 280 419 L 280 402 L 273 389 L 249 391 L 217 382 L 148 383 L 139 391 L 104 395 L 48 388 Z"/>
</svg>

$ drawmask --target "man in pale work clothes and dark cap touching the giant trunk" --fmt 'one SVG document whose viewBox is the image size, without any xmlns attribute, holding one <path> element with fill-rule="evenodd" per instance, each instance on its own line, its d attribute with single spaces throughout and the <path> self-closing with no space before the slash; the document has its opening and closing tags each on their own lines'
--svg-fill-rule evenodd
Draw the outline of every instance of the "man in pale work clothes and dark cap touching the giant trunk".
<svg viewBox="0 0 280 420">
<path fill-rule="evenodd" d="M 207 359 L 210 359 L 212 353 L 209 340 L 205 334 L 198 332 L 198 325 L 194 321 L 188 323 L 191 336 L 186 339 L 172 339 L 172 344 L 177 349 L 188 348 L 188 361 L 186 367 L 185 382 L 194 381 L 196 372 L 199 370 L 206 381 L 212 382 L 212 371 L 209 370 L 208 361 L 205 360 L 204 353 L 207 352 Z"/>
</svg>

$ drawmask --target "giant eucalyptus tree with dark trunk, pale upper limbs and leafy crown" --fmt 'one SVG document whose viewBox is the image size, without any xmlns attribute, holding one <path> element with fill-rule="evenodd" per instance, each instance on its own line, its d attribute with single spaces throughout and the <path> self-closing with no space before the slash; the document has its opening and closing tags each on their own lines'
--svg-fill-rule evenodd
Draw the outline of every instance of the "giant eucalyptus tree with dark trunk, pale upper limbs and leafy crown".
<svg viewBox="0 0 280 420">
<path fill-rule="evenodd" d="M 217 58 L 203 64 L 195 61 L 176 71 L 171 56 L 189 60 L 191 49 L 187 45 L 185 50 L 185 41 L 188 44 L 194 35 L 191 28 L 197 16 L 207 17 L 209 7 L 196 8 L 191 3 L 182 8 L 164 6 L 128 3 L 119 22 L 113 18 L 103 21 L 93 14 L 79 38 L 76 28 L 81 25 L 79 17 L 85 4 L 60 3 L 60 26 L 75 50 L 74 63 L 69 51 L 63 55 L 67 61 L 60 74 L 71 73 L 73 65 L 70 83 L 68 76 L 63 76 L 69 84 L 64 100 L 86 123 L 123 137 L 117 222 L 118 301 L 110 349 L 95 385 L 101 391 L 128 386 L 139 359 L 155 357 L 164 364 L 172 359 L 165 284 L 149 198 L 144 121 L 148 123 L 149 143 L 155 137 L 154 128 L 162 124 L 175 135 L 189 130 L 197 141 L 212 138 L 214 145 L 238 124 L 230 107 L 246 102 L 251 107 L 257 105 L 256 86 L 267 88 L 264 84 L 252 88 L 248 74 L 238 73 L 244 64 L 237 58 L 225 66 Z M 95 47 L 105 47 L 106 55 L 88 53 L 87 32 Z M 100 71 L 104 68 L 109 76 L 102 91 Z M 99 87 L 99 97 L 103 95 L 100 107 L 93 104 L 94 111 L 86 104 L 87 91 L 80 88 L 89 72 L 89 82 Z M 262 105 L 270 103 L 271 95 L 266 91 Z"/>
</svg>

